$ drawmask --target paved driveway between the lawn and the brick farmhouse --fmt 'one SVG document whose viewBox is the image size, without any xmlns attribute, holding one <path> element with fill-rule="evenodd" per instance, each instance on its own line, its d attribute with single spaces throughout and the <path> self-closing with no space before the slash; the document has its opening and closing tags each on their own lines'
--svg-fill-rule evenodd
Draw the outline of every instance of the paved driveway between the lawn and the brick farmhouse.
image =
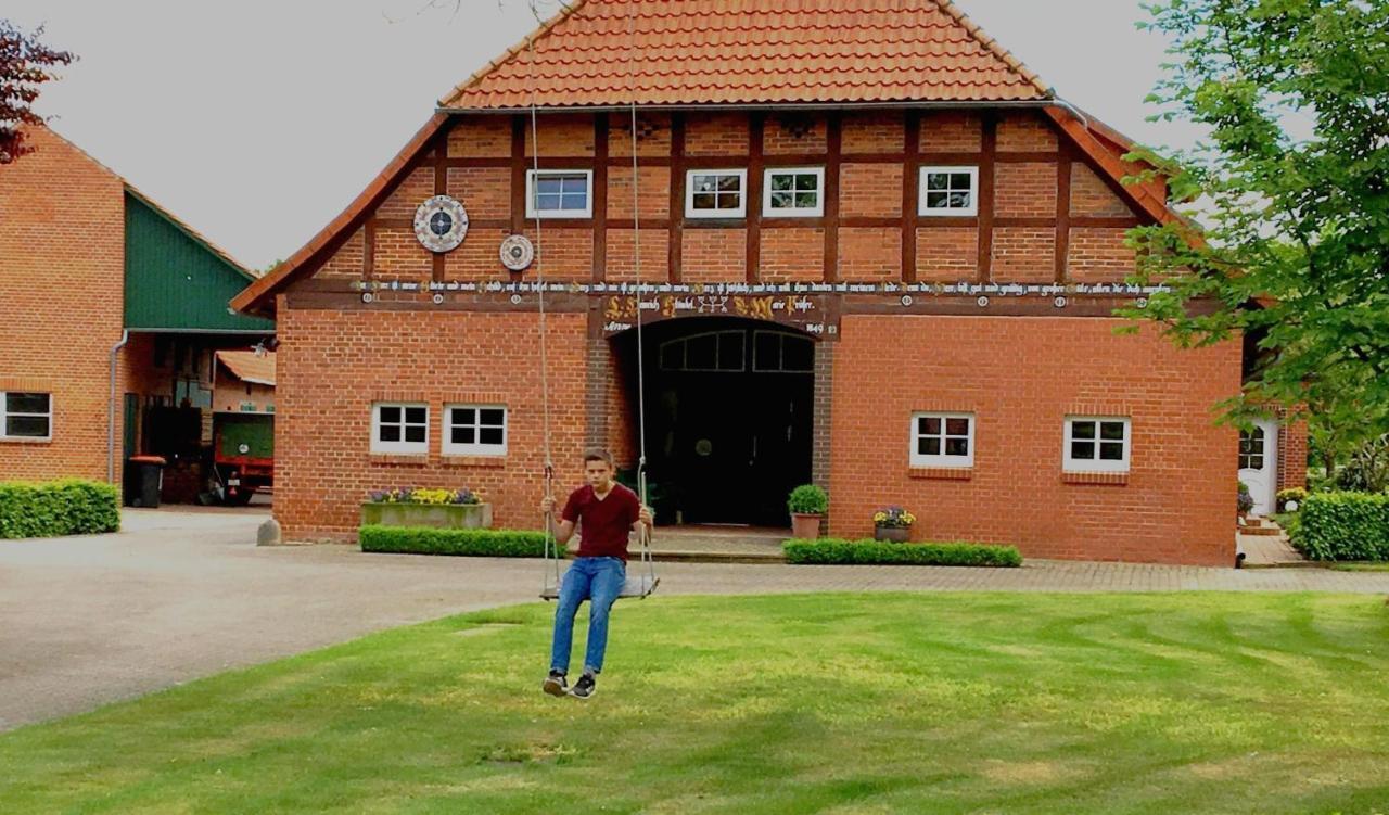
<svg viewBox="0 0 1389 815">
<path fill-rule="evenodd" d="M 539 591 L 539 561 L 260 548 L 256 528 L 265 516 L 133 510 L 118 535 L 0 541 L 0 730 L 383 628 L 531 601 Z M 661 564 L 661 586 L 663 594 L 1389 593 L 1389 573 L 1056 561 L 1021 569 Z M 543 655 L 536 659 L 543 668 Z"/>
</svg>

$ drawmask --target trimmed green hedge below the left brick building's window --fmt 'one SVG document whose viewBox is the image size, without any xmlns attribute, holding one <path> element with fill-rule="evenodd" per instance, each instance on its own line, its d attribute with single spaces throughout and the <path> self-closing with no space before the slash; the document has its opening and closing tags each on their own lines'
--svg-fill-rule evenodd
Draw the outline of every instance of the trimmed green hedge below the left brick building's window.
<svg viewBox="0 0 1389 815">
<path fill-rule="evenodd" d="M 108 483 L 61 479 L 0 483 L 0 537 L 96 535 L 121 529 L 121 493 Z"/>
</svg>

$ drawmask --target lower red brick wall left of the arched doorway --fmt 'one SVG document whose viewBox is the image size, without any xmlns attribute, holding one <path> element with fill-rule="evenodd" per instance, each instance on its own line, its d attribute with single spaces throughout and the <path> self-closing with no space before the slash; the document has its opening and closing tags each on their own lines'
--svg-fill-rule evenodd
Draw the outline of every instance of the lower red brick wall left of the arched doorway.
<svg viewBox="0 0 1389 815">
<path fill-rule="evenodd" d="M 582 479 L 585 318 L 546 321 L 551 450 L 564 489 Z M 281 308 L 278 329 L 275 516 L 286 539 L 350 539 L 371 490 L 407 486 L 482 490 L 494 526 L 539 528 L 536 315 Z M 371 453 L 371 405 L 389 400 L 429 404 L 428 455 Z M 510 411 L 501 461 L 440 455 L 444 404 L 474 401 Z"/>
</svg>

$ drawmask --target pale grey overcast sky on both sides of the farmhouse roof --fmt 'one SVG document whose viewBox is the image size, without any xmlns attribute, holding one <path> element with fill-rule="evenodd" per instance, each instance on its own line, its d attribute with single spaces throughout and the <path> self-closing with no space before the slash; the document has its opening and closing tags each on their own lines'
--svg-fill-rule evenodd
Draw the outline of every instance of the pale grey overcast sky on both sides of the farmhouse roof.
<svg viewBox="0 0 1389 815">
<path fill-rule="evenodd" d="M 53 128 L 246 265 L 289 257 L 456 83 L 535 28 L 528 0 L 4 0 L 81 60 Z M 542 8 L 557 8 L 540 0 Z M 1165 43 L 1139 0 L 957 0 L 1067 100 L 1150 144 Z"/>
</svg>

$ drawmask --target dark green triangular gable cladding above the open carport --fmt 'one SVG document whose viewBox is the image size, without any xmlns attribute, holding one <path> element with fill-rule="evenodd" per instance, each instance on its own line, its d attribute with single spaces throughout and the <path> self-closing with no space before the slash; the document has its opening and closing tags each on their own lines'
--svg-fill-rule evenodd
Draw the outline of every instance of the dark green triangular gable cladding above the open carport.
<svg viewBox="0 0 1389 815">
<path fill-rule="evenodd" d="M 125 328 L 275 333 L 275 321 L 228 304 L 256 279 L 206 237 L 125 187 Z"/>
</svg>

